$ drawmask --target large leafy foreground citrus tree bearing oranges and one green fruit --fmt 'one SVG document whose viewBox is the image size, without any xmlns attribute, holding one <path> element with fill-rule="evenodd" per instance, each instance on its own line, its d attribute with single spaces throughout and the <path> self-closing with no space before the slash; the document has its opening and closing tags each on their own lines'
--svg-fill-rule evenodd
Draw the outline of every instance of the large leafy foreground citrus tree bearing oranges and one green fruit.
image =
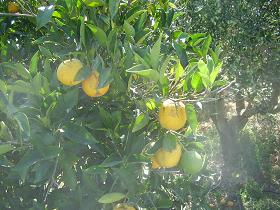
<svg viewBox="0 0 280 210">
<path fill-rule="evenodd" d="M 227 82 L 184 1 L 0 2 L 1 209 L 208 208 L 196 113 Z"/>
</svg>

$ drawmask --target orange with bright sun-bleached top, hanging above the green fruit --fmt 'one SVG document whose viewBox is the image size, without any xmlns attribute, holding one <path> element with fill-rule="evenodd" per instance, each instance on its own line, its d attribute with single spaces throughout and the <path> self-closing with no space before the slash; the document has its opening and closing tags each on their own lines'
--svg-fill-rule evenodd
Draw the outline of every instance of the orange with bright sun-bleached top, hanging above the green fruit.
<svg viewBox="0 0 280 210">
<path fill-rule="evenodd" d="M 159 110 L 159 122 L 167 130 L 179 130 L 187 121 L 185 105 L 182 102 L 174 102 L 167 99 Z"/>
</svg>

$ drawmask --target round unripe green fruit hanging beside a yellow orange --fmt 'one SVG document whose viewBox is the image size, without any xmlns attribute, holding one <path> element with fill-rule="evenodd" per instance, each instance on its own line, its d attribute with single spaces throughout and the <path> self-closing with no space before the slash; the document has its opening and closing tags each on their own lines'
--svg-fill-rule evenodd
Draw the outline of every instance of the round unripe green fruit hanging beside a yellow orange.
<svg viewBox="0 0 280 210">
<path fill-rule="evenodd" d="M 180 160 L 180 167 L 185 173 L 198 173 L 203 167 L 203 159 L 196 151 L 185 151 Z"/>
</svg>

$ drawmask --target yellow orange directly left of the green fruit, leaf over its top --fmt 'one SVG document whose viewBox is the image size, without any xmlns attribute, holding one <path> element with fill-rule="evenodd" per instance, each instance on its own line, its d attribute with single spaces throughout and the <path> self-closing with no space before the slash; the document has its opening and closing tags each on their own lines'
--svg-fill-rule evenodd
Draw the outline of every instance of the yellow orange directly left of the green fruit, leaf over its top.
<svg viewBox="0 0 280 210">
<path fill-rule="evenodd" d="M 176 143 L 176 146 L 173 150 L 165 150 L 160 148 L 154 155 L 154 158 L 158 165 L 163 168 L 172 168 L 177 166 L 180 161 L 182 154 L 182 146 L 179 143 Z"/>
</svg>

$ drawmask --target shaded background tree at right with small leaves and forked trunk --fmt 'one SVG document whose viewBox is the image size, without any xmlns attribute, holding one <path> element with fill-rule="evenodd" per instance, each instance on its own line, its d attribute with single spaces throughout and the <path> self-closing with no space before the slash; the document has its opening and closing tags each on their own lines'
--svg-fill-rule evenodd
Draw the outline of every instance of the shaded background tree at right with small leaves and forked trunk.
<svg viewBox="0 0 280 210">
<path fill-rule="evenodd" d="M 278 1 L 220 0 L 192 1 L 185 7 L 189 17 L 183 18 L 184 26 L 213 36 L 223 48 L 225 74 L 236 80 L 230 94 L 217 101 L 209 113 L 219 132 L 230 179 L 231 174 L 245 169 L 263 183 L 267 171 L 262 171 L 257 157 L 248 157 L 257 149 L 241 131 L 252 117 L 280 111 L 278 8 Z M 213 115 L 214 110 L 219 115 Z"/>
</svg>

